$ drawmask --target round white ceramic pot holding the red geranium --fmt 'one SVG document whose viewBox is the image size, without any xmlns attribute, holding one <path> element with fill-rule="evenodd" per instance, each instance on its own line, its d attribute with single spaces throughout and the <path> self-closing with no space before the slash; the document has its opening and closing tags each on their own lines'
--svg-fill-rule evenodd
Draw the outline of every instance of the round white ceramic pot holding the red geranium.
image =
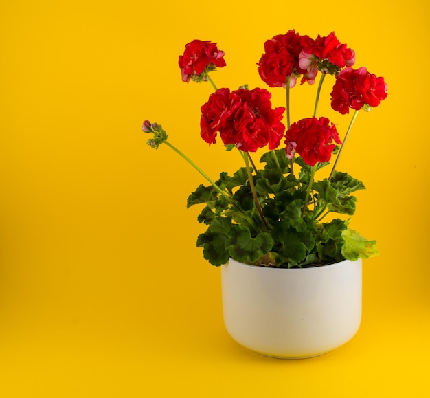
<svg viewBox="0 0 430 398">
<path fill-rule="evenodd" d="M 225 327 L 242 346 L 306 358 L 350 340 L 361 322 L 361 260 L 323 267 L 221 267 Z"/>
</svg>

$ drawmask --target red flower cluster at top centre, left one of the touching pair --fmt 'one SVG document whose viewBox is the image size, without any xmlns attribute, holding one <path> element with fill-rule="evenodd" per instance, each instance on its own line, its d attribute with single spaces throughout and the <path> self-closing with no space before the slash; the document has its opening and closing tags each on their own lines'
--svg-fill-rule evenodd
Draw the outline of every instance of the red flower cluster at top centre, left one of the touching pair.
<svg viewBox="0 0 430 398">
<path fill-rule="evenodd" d="M 301 36 L 295 30 L 278 34 L 264 43 L 264 54 L 258 62 L 258 73 L 270 87 L 286 87 L 286 78 L 290 77 L 290 87 L 294 87 L 297 76 L 304 75 L 304 80 L 311 84 L 315 74 L 307 76 L 306 69 L 299 66 L 299 55 L 304 47 L 311 44 L 309 36 Z"/>
</svg>

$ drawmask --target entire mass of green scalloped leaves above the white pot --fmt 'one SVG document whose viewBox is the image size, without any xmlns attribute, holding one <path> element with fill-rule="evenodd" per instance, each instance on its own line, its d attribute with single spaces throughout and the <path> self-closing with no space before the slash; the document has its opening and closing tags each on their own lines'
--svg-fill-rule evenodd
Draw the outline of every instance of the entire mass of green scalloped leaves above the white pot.
<svg viewBox="0 0 430 398">
<path fill-rule="evenodd" d="M 221 173 L 214 185 L 200 185 L 188 197 L 188 207 L 205 205 L 198 221 L 207 229 L 197 246 L 212 265 L 231 257 L 267 267 L 313 267 L 378 254 L 374 241 L 350 230 L 348 219 L 336 217 L 354 214 L 352 193 L 365 188 L 361 181 L 335 172 L 309 187 L 311 167 L 297 157 L 291 173 L 284 150 L 264 153 L 260 164 L 252 170 L 256 200 L 245 167 L 231 176 Z M 328 214 L 334 217 L 324 222 Z"/>
</svg>

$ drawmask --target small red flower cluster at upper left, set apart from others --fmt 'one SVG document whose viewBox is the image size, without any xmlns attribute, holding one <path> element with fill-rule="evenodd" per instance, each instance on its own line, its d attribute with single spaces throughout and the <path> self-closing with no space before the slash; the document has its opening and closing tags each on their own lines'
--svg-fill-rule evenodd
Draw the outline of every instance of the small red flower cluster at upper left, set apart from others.
<svg viewBox="0 0 430 398">
<path fill-rule="evenodd" d="M 182 81 L 190 82 L 207 79 L 202 76 L 203 72 L 214 70 L 216 67 L 225 67 L 225 52 L 216 47 L 216 43 L 210 41 L 193 40 L 185 45 L 185 52 L 179 56 L 179 67 L 181 68 Z"/>
</svg>

